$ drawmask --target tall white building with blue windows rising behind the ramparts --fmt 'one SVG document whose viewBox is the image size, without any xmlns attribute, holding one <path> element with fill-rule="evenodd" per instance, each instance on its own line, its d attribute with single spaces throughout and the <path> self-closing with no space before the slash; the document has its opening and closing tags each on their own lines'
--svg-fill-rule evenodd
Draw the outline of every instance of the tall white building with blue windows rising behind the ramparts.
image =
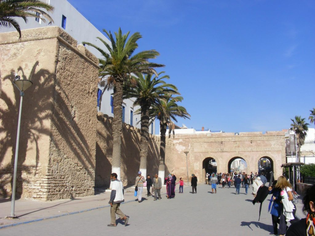
<svg viewBox="0 0 315 236">
<path fill-rule="evenodd" d="M 64 29 L 69 35 L 77 40 L 79 44 L 82 42 L 90 42 L 96 46 L 103 48 L 105 51 L 104 44 L 100 42 L 96 37 L 100 37 L 110 44 L 110 41 L 99 31 L 89 20 L 87 20 L 74 6 L 72 6 L 67 0 L 42 0 L 52 6 L 54 6 L 54 12 L 50 12 L 49 15 L 54 20 L 54 23 L 51 25 L 59 26 Z M 38 27 L 46 27 L 49 22 L 44 23 L 39 18 L 28 18 L 27 24 L 21 18 L 15 18 L 20 24 L 21 30 L 32 29 Z M 16 31 L 15 28 L 0 28 L 1 32 Z M 23 32 L 22 32 L 23 38 Z M 89 51 L 93 53 L 97 58 L 101 57 L 101 54 L 93 47 L 87 46 Z M 87 78 L 88 79 L 88 78 Z M 102 89 L 101 87 L 99 87 Z M 111 94 L 113 91 L 106 91 L 102 96 L 102 106 L 101 109 L 98 108 L 98 111 L 103 112 L 109 116 L 113 116 L 112 107 L 111 107 Z M 137 128 L 140 128 L 140 123 L 136 123 L 140 120 L 140 115 L 135 115 L 134 112 L 139 109 L 139 107 L 134 107 L 135 99 L 124 99 L 123 100 L 123 110 L 124 110 L 124 122 Z M 95 103 L 97 102 L 97 94 L 95 94 Z M 153 121 L 152 125 L 149 127 L 149 132 L 155 134 L 155 122 Z"/>
</svg>

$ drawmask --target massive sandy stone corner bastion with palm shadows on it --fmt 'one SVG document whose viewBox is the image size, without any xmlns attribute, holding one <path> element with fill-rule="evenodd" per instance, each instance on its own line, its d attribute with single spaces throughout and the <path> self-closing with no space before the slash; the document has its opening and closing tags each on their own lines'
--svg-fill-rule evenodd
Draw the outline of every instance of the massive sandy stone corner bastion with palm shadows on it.
<svg viewBox="0 0 315 236">
<path fill-rule="evenodd" d="M 19 92 L 15 73 L 34 83 L 25 93 L 17 193 L 65 199 L 94 194 L 98 59 L 59 27 L 0 34 L 0 195 L 11 194 Z"/>
</svg>

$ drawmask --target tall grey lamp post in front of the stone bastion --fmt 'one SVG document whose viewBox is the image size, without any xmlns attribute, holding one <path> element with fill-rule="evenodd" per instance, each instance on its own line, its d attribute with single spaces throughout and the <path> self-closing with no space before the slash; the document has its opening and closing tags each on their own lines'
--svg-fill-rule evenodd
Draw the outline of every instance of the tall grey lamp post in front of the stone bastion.
<svg viewBox="0 0 315 236">
<path fill-rule="evenodd" d="M 11 214 L 10 217 L 16 218 L 14 215 L 14 206 L 15 206 L 15 190 L 16 190 L 16 171 L 18 165 L 18 153 L 19 153 L 19 141 L 20 141 L 20 125 L 21 125 L 21 112 L 22 112 L 22 102 L 24 91 L 28 89 L 33 82 L 30 80 L 21 80 L 20 76 L 15 76 L 13 84 L 20 91 L 20 110 L 19 110 L 19 121 L 18 121 L 18 131 L 16 134 L 16 146 L 15 146 L 15 157 L 14 157 L 14 171 L 13 171 L 13 185 L 12 185 L 12 195 L 11 195 Z"/>
</svg>

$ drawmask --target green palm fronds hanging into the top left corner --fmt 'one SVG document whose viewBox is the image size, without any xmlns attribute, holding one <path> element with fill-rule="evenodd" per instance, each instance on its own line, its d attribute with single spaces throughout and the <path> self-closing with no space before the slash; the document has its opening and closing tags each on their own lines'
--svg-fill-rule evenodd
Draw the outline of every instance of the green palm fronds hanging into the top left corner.
<svg viewBox="0 0 315 236">
<path fill-rule="evenodd" d="M 0 27 L 14 27 L 19 32 L 21 39 L 21 28 L 13 17 L 22 18 L 27 23 L 27 17 L 37 17 L 49 24 L 53 19 L 44 10 L 54 11 L 54 7 L 39 0 L 0 0 Z"/>
</svg>

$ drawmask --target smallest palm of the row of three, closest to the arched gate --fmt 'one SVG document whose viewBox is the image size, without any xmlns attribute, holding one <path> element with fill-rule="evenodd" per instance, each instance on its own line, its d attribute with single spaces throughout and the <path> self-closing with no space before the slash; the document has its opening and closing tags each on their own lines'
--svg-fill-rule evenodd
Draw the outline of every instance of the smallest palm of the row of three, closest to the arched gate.
<svg viewBox="0 0 315 236">
<path fill-rule="evenodd" d="M 186 108 L 179 106 L 176 102 L 181 102 L 182 97 L 170 97 L 168 99 L 161 99 L 160 104 L 153 106 L 150 109 L 150 117 L 157 118 L 160 121 L 160 133 L 161 133 L 161 144 L 160 144 L 160 159 L 159 159 L 159 176 L 164 178 L 165 174 L 165 134 L 167 126 L 169 125 L 169 137 L 173 130 L 174 135 L 174 123 L 176 117 L 183 117 L 190 119 L 190 115 L 186 111 Z"/>
</svg>

